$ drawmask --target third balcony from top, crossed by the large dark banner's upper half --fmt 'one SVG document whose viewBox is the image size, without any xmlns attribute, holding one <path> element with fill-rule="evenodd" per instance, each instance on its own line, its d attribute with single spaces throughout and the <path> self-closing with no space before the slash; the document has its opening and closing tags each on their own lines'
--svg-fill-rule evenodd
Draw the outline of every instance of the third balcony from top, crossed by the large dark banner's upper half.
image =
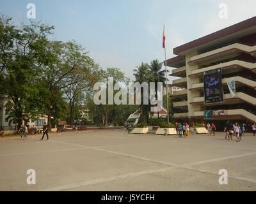
<svg viewBox="0 0 256 204">
<path fill-rule="evenodd" d="M 229 78 L 223 78 L 222 79 L 222 84 L 227 85 L 227 82 L 230 82 L 234 80 L 236 82 L 236 87 L 241 87 L 241 86 L 247 86 L 253 89 L 256 89 L 256 82 L 253 80 L 250 80 L 248 78 L 244 77 L 229 77 Z M 198 84 L 192 84 L 189 91 L 191 90 L 196 90 L 196 89 L 204 89 L 204 83 L 198 83 Z"/>
</svg>

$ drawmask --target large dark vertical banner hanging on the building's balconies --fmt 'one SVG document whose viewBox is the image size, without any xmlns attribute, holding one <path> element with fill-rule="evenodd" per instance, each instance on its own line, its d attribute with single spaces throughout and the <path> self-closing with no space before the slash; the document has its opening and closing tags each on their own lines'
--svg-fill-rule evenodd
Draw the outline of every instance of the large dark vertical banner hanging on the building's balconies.
<svg viewBox="0 0 256 204">
<path fill-rule="evenodd" d="M 204 103 L 224 102 L 221 68 L 204 72 Z"/>
</svg>

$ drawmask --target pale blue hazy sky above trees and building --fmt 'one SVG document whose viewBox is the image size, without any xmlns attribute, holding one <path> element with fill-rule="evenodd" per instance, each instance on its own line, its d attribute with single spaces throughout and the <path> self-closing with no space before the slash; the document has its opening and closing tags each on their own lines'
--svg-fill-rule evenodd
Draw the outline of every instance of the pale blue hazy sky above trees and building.
<svg viewBox="0 0 256 204">
<path fill-rule="evenodd" d="M 131 80 L 141 62 L 164 61 L 163 25 L 169 59 L 174 47 L 256 15 L 255 0 L 0 0 L 0 15 L 26 24 L 29 3 L 35 20 L 54 25 L 52 39 L 76 40 L 103 69 L 120 68 Z"/>
</svg>

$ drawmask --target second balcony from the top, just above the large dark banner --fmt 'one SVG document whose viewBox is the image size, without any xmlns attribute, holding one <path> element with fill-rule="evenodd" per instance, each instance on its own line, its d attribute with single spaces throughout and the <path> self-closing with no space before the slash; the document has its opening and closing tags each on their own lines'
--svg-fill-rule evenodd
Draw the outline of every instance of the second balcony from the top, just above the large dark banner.
<svg viewBox="0 0 256 204">
<path fill-rule="evenodd" d="M 240 71 L 242 68 L 249 69 L 256 73 L 256 63 L 245 62 L 245 61 L 236 59 L 233 61 L 209 66 L 207 68 L 195 69 L 195 70 L 191 71 L 191 74 L 189 75 L 189 77 L 195 77 L 195 76 L 200 76 L 200 75 L 202 76 L 202 75 L 204 75 L 205 71 L 209 71 L 209 70 L 216 69 L 216 68 L 222 68 L 223 73 L 225 73 L 227 71 L 234 71 L 234 69 L 237 69 L 237 71 Z"/>
</svg>

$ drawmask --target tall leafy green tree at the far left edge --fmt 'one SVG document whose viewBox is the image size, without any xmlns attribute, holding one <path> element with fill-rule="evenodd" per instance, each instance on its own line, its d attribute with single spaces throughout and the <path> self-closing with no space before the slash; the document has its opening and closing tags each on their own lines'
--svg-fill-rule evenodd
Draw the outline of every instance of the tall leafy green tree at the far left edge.
<svg viewBox="0 0 256 204">
<path fill-rule="evenodd" d="M 41 113 L 42 104 L 36 97 L 40 90 L 35 79 L 42 64 L 49 60 L 47 36 L 53 27 L 30 22 L 17 29 L 10 22 L 10 18 L 0 18 L 2 94 L 7 101 L 6 113 L 19 127 L 22 120 Z"/>
</svg>

